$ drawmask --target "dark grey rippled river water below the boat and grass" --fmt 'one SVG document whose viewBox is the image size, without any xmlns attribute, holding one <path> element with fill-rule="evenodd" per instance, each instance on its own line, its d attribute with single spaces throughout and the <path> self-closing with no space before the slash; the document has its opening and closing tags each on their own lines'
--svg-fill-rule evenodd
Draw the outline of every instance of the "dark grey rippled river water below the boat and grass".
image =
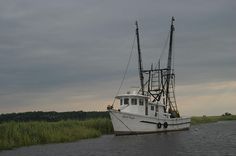
<svg viewBox="0 0 236 156">
<path fill-rule="evenodd" d="M 114 136 L 36 145 L 0 156 L 236 156 L 236 121 L 192 126 L 187 131 Z"/>
</svg>

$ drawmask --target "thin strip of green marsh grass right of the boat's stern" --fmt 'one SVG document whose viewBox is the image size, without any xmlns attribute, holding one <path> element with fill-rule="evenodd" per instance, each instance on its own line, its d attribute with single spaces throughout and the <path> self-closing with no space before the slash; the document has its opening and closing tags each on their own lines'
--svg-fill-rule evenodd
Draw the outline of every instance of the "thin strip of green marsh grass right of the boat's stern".
<svg viewBox="0 0 236 156">
<path fill-rule="evenodd" d="M 192 117 L 191 124 L 196 125 L 202 123 L 211 123 L 211 122 L 227 121 L 227 120 L 236 120 L 236 115 Z"/>
</svg>

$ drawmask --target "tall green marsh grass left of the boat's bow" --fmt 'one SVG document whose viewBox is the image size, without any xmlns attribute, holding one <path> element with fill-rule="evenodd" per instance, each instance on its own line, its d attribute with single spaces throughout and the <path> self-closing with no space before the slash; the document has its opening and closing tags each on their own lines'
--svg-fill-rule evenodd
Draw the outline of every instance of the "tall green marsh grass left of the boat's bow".
<svg viewBox="0 0 236 156">
<path fill-rule="evenodd" d="M 7 122 L 0 124 L 0 150 L 34 144 L 71 142 L 113 132 L 110 119 L 58 122 Z"/>
</svg>

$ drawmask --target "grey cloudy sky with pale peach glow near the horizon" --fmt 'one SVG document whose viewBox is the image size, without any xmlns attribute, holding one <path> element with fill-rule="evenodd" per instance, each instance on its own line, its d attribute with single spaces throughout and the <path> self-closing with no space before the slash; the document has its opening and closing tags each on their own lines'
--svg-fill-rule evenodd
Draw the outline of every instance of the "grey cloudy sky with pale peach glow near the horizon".
<svg viewBox="0 0 236 156">
<path fill-rule="evenodd" d="M 236 114 L 235 10 L 235 0 L 1 0 L 0 113 L 106 110 L 128 62 L 134 21 L 147 69 L 175 16 L 180 112 Z M 139 85 L 136 60 L 121 92 Z"/>
</svg>

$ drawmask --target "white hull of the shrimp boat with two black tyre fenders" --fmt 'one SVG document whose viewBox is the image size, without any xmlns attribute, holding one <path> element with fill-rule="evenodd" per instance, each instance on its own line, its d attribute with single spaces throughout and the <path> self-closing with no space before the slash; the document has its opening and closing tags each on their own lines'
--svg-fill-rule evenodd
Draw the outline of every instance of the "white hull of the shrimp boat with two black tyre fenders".
<svg viewBox="0 0 236 156">
<path fill-rule="evenodd" d="M 190 128 L 191 118 L 158 118 L 109 110 L 115 135 L 157 133 Z M 167 123 L 167 124 L 166 124 Z"/>
</svg>

